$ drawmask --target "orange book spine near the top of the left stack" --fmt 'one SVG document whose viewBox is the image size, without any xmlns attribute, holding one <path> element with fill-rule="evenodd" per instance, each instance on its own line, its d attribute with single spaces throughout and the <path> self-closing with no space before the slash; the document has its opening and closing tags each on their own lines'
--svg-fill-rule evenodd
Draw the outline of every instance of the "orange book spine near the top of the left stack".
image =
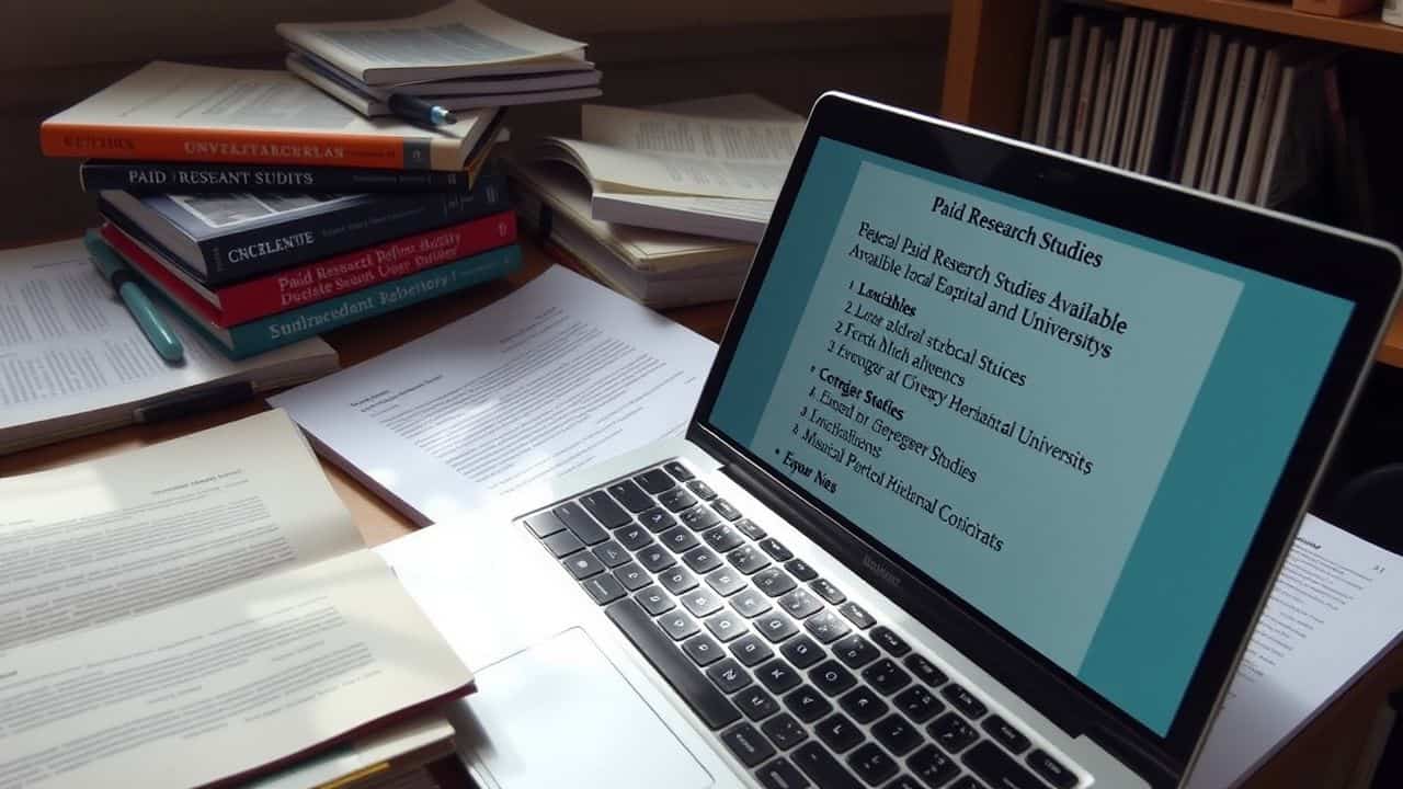
<svg viewBox="0 0 1403 789">
<path fill-rule="evenodd" d="M 241 164 L 320 164 L 404 170 L 422 167 L 432 138 L 391 138 L 267 129 L 140 129 L 101 124 L 39 125 L 45 156 L 150 160 L 229 161 Z"/>
</svg>

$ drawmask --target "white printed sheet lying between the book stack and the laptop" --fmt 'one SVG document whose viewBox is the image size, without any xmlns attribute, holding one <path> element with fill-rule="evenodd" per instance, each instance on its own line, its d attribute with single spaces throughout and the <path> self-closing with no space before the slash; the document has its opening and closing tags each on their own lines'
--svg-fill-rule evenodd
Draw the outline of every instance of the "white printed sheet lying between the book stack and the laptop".
<svg viewBox="0 0 1403 789">
<path fill-rule="evenodd" d="M 269 402 L 419 524 L 680 435 L 716 344 L 554 267 L 445 329 Z"/>
</svg>

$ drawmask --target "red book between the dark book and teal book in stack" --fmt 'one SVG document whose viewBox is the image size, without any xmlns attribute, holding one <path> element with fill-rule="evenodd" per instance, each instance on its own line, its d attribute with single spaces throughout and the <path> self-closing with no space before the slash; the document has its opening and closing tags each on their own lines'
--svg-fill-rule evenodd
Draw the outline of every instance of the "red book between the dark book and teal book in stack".
<svg viewBox="0 0 1403 789">
<path fill-rule="evenodd" d="M 511 244 L 516 215 L 504 211 L 217 288 L 201 284 L 112 225 L 102 227 L 102 239 L 210 323 L 229 329 Z"/>
</svg>

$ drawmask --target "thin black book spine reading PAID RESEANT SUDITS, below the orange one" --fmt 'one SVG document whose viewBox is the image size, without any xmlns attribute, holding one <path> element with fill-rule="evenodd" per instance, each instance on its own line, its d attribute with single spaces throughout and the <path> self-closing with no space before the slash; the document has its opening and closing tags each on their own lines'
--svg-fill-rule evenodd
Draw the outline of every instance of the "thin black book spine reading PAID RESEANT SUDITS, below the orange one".
<svg viewBox="0 0 1403 789">
<path fill-rule="evenodd" d="M 471 188 L 466 171 L 375 170 L 368 167 L 268 167 L 195 161 L 88 160 L 79 167 L 86 192 L 121 190 L 132 194 L 175 192 L 462 192 Z"/>
</svg>

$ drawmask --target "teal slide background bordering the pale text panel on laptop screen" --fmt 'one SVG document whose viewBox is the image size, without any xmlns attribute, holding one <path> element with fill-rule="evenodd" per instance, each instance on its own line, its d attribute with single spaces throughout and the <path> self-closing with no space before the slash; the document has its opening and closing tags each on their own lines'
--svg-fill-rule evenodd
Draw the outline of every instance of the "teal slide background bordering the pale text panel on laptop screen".
<svg viewBox="0 0 1403 789">
<path fill-rule="evenodd" d="M 1063 667 L 1164 733 L 1197 664 L 1202 643 L 1240 564 L 1271 486 L 1280 475 L 1320 372 L 1350 313 L 1347 302 L 1093 223 L 974 184 L 819 140 L 797 197 L 756 314 L 742 336 L 711 423 L 741 444 L 756 434 L 790 340 L 808 303 L 819 264 L 863 161 L 969 192 L 1103 239 L 1188 263 L 1240 282 L 1232 313 L 1188 423 L 1080 667 Z M 882 216 L 882 206 L 870 206 Z M 960 254 L 961 247 L 951 251 Z M 856 267 L 856 261 L 853 261 Z M 932 305 L 936 306 L 936 305 Z M 939 309 L 939 307 L 936 307 Z M 1271 397 L 1260 399 L 1260 393 Z M 1258 402 L 1258 399 L 1261 402 Z M 1263 425 L 1273 430 L 1264 431 Z M 770 444 L 765 442 L 765 448 Z M 882 535 L 877 535 L 882 536 Z M 888 539 L 897 535 L 890 535 Z M 899 542 L 899 541 L 898 541 Z M 996 563 L 991 567 L 996 569 Z M 1075 567 L 1068 569 L 1075 573 Z M 1051 590 L 1049 590 L 1051 591 Z M 1038 592 L 1033 590 L 1035 597 Z M 1049 647 L 1034 643 L 1049 651 Z M 1052 649 L 1054 653 L 1062 650 Z"/>
</svg>

